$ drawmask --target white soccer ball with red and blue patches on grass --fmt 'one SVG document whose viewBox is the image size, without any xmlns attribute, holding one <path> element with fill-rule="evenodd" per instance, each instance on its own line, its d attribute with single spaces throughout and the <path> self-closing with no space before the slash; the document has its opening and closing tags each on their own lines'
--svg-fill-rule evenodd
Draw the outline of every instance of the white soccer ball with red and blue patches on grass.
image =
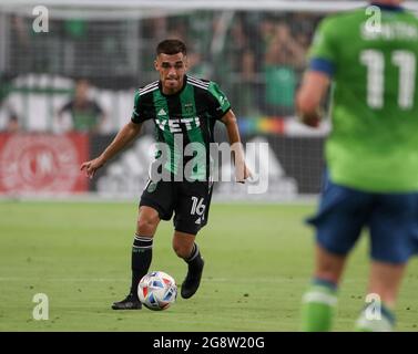
<svg viewBox="0 0 418 354">
<path fill-rule="evenodd" d="M 173 277 L 156 271 L 144 275 L 137 285 L 140 301 L 150 310 L 161 311 L 177 298 L 177 285 Z"/>
</svg>

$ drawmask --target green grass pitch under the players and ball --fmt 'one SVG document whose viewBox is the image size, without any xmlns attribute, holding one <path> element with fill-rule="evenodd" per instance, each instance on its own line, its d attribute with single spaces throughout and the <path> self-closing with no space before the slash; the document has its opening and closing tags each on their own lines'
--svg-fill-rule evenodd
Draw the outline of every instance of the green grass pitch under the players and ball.
<svg viewBox="0 0 418 354">
<path fill-rule="evenodd" d="M 206 260 L 196 295 L 166 311 L 110 309 L 130 284 L 134 202 L 0 202 L 0 331 L 297 331 L 313 266 L 315 205 L 214 204 L 197 241 Z M 151 270 L 181 283 L 185 263 L 162 222 Z M 336 331 L 350 331 L 365 303 L 367 238 L 351 254 L 339 291 Z M 32 317 L 33 295 L 49 298 L 49 320 Z M 418 263 L 397 306 L 398 331 L 418 327 Z"/>
</svg>

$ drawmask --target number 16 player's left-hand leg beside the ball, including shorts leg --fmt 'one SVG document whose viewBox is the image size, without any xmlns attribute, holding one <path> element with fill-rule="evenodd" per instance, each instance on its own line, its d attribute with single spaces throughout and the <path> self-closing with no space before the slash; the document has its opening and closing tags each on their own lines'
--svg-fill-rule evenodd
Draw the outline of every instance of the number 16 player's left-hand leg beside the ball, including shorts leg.
<svg viewBox="0 0 418 354">
<path fill-rule="evenodd" d="M 172 187 L 170 183 L 149 181 L 141 197 L 136 231 L 132 246 L 130 293 L 126 299 L 115 302 L 112 305 L 113 310 L 141 309 L 141 302 L 137 298 L 137 284 L 150 269 L 154 233 L 160 220 L 170 220 L 173 214 L 172 204 Z"/>
</svg>

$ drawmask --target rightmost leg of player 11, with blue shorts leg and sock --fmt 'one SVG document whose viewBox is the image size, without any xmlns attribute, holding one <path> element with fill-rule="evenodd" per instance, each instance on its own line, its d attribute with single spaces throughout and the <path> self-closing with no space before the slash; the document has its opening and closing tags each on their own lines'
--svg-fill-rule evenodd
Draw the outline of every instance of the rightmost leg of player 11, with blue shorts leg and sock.
<svg viewBox="0 0 418 354">
<path fill-rule="evenodd" d="M 409 257 L 418 249 L 418 196 L 379 195 L 375 205 L 370 218 L 370 298 L 356 330 L 378 332 L 395 327 L 394 310 L 401 279 Z"/>
</svg>

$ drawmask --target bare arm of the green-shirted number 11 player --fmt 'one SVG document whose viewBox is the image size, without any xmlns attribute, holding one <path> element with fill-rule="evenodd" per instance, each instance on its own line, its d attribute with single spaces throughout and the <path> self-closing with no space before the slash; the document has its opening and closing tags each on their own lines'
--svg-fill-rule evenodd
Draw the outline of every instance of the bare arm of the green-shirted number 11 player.
<svg viewBox="0 0 418 354">
<path fill-rule="evenodd" d="M 327 94 L 330 77 L 320 71 L 307 71 L 296 95 L 296 110 L 302 122 L 317 127 L 323 118 L 322 103 Z"/>
</svg>

